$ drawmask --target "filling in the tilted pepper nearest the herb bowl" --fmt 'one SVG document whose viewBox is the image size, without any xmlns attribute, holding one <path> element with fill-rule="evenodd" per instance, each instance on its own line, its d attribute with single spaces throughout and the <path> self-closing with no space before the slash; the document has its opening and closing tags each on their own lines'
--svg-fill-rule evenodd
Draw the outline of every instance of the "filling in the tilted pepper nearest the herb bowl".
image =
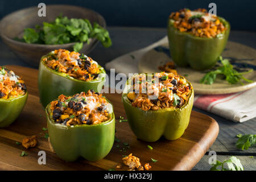
<svg viewBox="0 0 256 182">
<path fill-rule="evenodd" d="M 47 57 L 44 57 L 43 61 L 48 68 L 66 73 L 66 77 L 82 81 L 94 80 L 102 72 L 102 69 L 92 58 L 65 49 L 52 51 Z"/>
</svg>

